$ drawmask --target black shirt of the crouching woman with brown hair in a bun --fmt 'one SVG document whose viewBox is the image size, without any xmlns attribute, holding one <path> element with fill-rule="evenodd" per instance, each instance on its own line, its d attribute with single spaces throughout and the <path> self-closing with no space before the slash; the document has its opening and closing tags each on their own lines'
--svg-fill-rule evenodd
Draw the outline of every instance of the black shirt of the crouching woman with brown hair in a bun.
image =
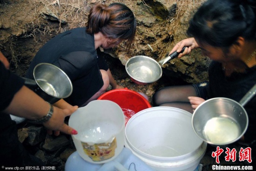
<svg viewBox="0 0 256 171">
<path fill-rule="evenodd" d="M 108 69 L 105 60 L 97 56 L 94 35 L 86 33 L 86 28 L 75 28 L 49 40 L 31 62 L 27 78 L 34 79 L 33 70 L 38 63 L 52 63 L 67 74 L 73 84 L 73 93 L 65 100 L 78 106 L 103 86 L 98 63 L 104 70 Z"/>
</svg>

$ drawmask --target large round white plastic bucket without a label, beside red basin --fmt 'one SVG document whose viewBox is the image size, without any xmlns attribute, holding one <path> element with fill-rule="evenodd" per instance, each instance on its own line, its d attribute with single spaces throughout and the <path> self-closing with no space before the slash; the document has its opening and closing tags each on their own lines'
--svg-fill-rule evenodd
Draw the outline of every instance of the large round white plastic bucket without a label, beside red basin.
<svg viewBox="0 0 256 171">
<path fill-rule="evenodd" d="M 125 146 L 156 171 L 194 171 L 207 143 L 195 134 L 191 119 L 179 108 L 144 109 L 128 121 Z"/>
</svg>

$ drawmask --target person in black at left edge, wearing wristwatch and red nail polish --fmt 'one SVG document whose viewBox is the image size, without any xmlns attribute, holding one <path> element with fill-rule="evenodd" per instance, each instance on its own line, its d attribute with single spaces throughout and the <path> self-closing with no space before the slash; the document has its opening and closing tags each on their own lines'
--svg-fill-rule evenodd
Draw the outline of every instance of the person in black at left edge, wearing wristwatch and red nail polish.
<svg viewBox="0 0 256 171">
<path fill-rule="evenodd" d="M 39 158 L 29 154 L 18 139 L 16 122 L 10 114 L 40 121 L 53 108 L 52 116 L 41 122 L 50 130 L 67 134 L 77 134 L 77 131 L 64 123 L 66 116 L 72 114 L 78 107 L 65 110 L 49 107 L 50 105 L 24 86 L 24 80 L 13 74 L 9 62 L 0 51 L 0 166 L 2 170 L 8 166 L 45 166 Z M 48 112 L 48 113 L 47 113 Z"/>
</svg>

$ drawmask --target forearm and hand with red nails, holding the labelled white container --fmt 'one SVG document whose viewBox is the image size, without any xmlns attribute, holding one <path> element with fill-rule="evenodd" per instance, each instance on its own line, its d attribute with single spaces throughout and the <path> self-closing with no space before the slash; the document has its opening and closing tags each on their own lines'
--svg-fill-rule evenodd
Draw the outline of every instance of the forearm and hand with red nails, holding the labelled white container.
<svg viewBox="0 0 256 171">
<path fill-rule="evenodd" d="M 4 112 L 29 120 L 39 120 L 47 115 L 49 108 L 49 103 L 44 101 L 26 86 L 22 86 L 22 88 L 14 95 L 13 100 Z M 67 126 L 67 124 L 64 123 L 64 119 L 66 116 L 71 115 L 77 108 L 77 106 L 67 109 L 54 107 L 52 117 L 42 124 L 50 130 L 61 131 L 67 134 L 76 134 L 77 131 L 72 127 Z"/>
</svg>

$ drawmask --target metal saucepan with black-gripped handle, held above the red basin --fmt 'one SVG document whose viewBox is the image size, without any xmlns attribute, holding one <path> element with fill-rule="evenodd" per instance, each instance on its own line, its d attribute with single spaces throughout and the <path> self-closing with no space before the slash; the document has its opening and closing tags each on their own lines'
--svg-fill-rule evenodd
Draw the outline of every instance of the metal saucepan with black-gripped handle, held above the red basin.
<svg viewBox="0 0 256 171">
<path fill-rule="evenodd" d="M 155 82 L 162 77 L 162 65 L 177 57 L 185 48 L 186 46 L 183 47 L 181 52 L 174 52 L 159 62 L 156 62 L 151 57 L 142 55 L 131 57 L 125 64 L 126 72 L 131 80 L 137 84 L 146 85 Z"/>
</svg>

